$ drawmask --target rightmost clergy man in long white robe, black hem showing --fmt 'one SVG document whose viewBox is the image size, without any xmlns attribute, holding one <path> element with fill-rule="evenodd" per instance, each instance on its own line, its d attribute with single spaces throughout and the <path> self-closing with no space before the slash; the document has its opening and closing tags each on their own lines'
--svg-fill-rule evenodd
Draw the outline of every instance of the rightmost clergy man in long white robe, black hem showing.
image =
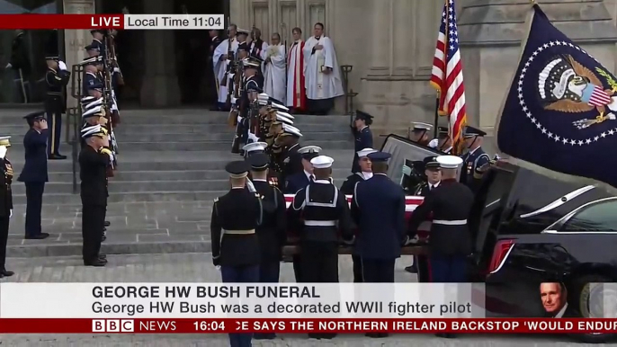
<svg viewBox="0 0 617 347">
<path fill-rule="evenodd" d="M 314 32 L 303 49 L 307 109 L 310 114 L 327 114 L 335 105 L 335 97 L 344 95 L 343 80 L 335 46 L 324 36 L 324 25 L 315 24 Z"/>
</svg>

